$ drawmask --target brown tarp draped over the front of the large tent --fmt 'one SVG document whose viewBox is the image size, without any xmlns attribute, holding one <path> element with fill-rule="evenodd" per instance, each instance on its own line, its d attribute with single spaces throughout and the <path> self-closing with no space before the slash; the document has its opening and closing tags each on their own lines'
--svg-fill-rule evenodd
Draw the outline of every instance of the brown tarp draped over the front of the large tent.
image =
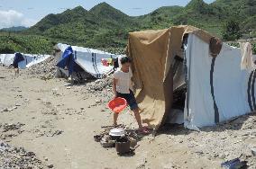
<svg viewBox="0 0 256 169">
<path fill-rule="evenodd" d="M 211 36 L 192 26 L 176 26 L 159 31 L 129 33 L 127 55 L 133 59 L 133 82 L 142 120 L 153 129 L 159 129 L 172 106 L 175 56 L 182 58 L 182 41 L 187 33 L 196 34 L 210 42 Z"/>
</svg>

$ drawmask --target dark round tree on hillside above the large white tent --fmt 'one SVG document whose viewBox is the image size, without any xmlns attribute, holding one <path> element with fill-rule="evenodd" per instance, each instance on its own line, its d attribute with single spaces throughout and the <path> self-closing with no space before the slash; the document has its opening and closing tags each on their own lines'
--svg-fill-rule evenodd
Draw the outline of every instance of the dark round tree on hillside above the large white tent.
<svg viewBox="0 0 256 169">
<path fill-rule="evenodd" d="M 230 20 L 224 23 L 222 30 L 222 36 L 224 40 L 238 40 L 242 37 L 239 22 Z"/>
</svg>

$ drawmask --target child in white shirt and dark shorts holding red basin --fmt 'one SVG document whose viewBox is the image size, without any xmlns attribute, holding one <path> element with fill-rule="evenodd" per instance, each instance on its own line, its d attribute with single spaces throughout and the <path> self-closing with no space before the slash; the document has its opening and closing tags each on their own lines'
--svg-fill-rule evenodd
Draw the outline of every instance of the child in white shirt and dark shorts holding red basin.
<svg viewBox="0 0 256 169">
<path fill-rule="evenodd" d="M 121 58 L 121 68 L 114 72 L 113 92 L 114 97 L 122 97 L 127 101 L 131 110 L 134 112 L 135 119 L 138 122 L 139 130 L 143 134 L 149 133 L 148 129 L 142 127 L 142 119 L 139 107 L 132 91 L 133 76 L 131 67 L 131 59 L 128 57 Z M 114 126 L 117 125 L 118 114 L 114 113 Z"/>
</svg>

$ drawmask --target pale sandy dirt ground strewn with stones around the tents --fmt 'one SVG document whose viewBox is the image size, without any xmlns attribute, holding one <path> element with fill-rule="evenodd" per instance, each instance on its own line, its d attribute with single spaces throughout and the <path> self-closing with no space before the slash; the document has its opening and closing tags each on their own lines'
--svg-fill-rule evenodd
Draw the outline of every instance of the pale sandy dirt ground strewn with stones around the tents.
<svg viewBox="0 0 256 169">
<path fill-rule="evenodd" d="M 118 156 L 114 148 L 101 147 L 93 138 L 101 126 L 112 124 L 105 104 L 111 92 L 93 93 L 89 86 L 41 80 L 24 70 L 14 77 L 12 69 L 0 67 L 0 140 L 33 152 L 41 166 L 31 168 L 221 168 L 236 157 L 256 168 L 251 153 L 256 147 L 255 113 L 201 132 L 166 125 L 158 136 L 143 137 L 135 155 Z M 129 111 L 122 113 L 120 122 L 136 128 Z M 0 168 L 5 168 L 5 158 L 0 151 Z"/>
</svg>

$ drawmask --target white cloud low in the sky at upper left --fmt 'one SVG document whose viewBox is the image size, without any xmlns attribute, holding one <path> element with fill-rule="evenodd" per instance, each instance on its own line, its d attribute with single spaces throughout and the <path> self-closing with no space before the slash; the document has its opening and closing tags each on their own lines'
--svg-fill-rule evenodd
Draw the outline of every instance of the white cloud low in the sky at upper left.
<svg viewBox="0 0 256 169">
<path fill-rule="evenodd" d="M 36 23 L 35 20 L 26 18 L 23 13 L 19 13 L 14 10 L 9 10 L 9 11 L 0 10 L 0 29 L 12 27 L 12 26 L 30 27 L 35 23 Z"/>
</svg>

